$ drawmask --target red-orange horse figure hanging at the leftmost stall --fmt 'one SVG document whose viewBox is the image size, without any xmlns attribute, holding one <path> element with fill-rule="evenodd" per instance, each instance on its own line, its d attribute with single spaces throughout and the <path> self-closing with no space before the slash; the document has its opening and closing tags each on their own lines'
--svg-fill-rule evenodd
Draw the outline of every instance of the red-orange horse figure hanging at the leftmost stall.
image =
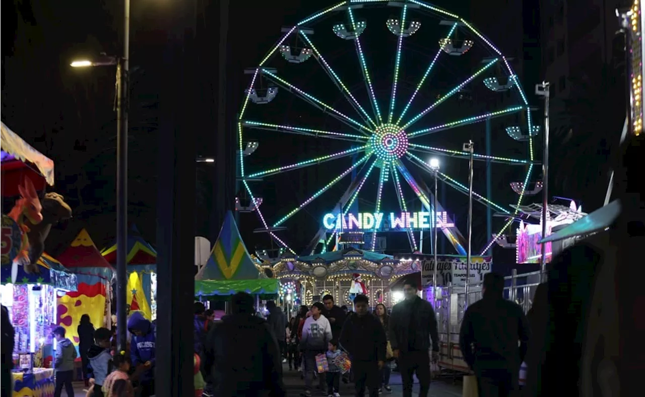
<svg viewBox="0 0 645 397">
<path fill-rule="evenodd" d="M 23 233 L 18 255 L 14 258 L 11 268 L 11 280 L 14 283 L 18 275 L 18 266 L 25 266 L 30 263 L 29 239 L 27 236 L 29 226 L 27 223 L 36 225 L 43 220 L 43 215 L 41 214 L 43 206 L 41 205 L 40 198 L 38 198 L 34 184 L 28 177 L 25 177 L 22 184 L 18 185 L 18 191 L 20 192 L 21 198 L 16 200 L 14 208 L 8 214 Z"/>
</svg>

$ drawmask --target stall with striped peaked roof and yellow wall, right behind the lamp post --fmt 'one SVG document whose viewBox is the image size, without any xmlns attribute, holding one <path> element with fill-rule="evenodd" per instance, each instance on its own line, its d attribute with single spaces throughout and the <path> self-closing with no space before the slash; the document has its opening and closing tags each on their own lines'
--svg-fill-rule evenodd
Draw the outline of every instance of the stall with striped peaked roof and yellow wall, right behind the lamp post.
<svg viewBox="0 0 645 397">
<path fill-rule="evenodd" d="M 128 231 L 126 264 L 128 286 L 126 301 L 130 310 L 139 310 L 148 320 L 157 318 L 157 251 L 148 244 L 139 229 L 132 225 Z M 114 242 L 101 251 L 103 258 L 113 267 L 117 262 L 117 244 Z M 115 280 L 112 290 L 115 290 Z"/>
</svg>

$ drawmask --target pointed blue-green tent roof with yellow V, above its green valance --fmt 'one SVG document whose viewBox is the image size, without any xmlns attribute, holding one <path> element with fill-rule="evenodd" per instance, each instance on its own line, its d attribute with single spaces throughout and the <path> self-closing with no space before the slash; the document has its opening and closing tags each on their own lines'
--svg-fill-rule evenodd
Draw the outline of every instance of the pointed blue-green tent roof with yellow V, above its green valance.
<svg viewBox="0 0 645 397">
<path fill-rule="evenodd" d="M 252 280 L 258 277 L 259 272 L 240 237 L 233 213 L 228 211 L 210 257 L 195 280 Z"/>
</svg>

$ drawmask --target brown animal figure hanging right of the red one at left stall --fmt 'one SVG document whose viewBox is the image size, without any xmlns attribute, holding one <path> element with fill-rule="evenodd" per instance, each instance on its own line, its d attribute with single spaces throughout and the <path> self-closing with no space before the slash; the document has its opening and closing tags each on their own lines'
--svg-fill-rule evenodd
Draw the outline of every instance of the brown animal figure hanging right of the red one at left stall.
<svg viewBox="0 0 645 397">
<path fill-rule="evenodd" d="M 68 206 L 63 196 L 58 193 L 45 193 L 41 203 L 43 205 L 43 210 L 41 211 L 43 220 L 37 224 L 26 222 L 29 228 L 27 233 L 29 239 L 29 263 L 25 265 L 26 273 L 39 272 L 36 263 L 43 255 L 43 251 L 45 251 L 45 240 L 52 229 L 52 225 L 72 217 L 72 208 Z"/>
</svg>

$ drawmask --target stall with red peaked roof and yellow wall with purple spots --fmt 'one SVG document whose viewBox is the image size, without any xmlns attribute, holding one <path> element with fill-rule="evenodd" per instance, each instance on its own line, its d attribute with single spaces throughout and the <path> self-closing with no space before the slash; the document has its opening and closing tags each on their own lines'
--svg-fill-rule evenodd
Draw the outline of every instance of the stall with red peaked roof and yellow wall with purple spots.
<svg viewBox="0 0 645 397">
<path fill-rule="evenodd" d="M 110 282 L 114 269 L 103 258 L 86 229 L 82 229 L 57 259 L 77 276 L 77 291 L 58 297 L 57 325 L 75 346 L 81 316 L 90 316 L 95 328 L 111 327 Z"/>
</svg>

